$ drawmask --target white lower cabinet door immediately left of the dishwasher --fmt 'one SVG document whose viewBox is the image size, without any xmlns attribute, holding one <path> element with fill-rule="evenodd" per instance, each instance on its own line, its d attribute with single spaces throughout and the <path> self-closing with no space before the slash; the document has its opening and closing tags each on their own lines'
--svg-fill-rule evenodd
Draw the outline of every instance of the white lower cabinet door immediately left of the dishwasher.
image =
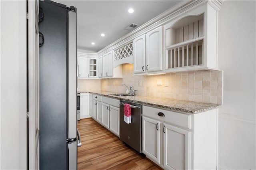
<svg viewBox="0 0 256 170">
<path fill-rule="evenodd" d="M 111 130 L 111 132 L 113 132 L 114 134 L 116 134 L 117 136 L 119 136 L 119 117 L 120 117 L 120 113 L 119 113 L 119 108 L 118 107 L 114 107 L 114 106 L 110 106 L 110 127 L 109 129 Z"/>
</svg>

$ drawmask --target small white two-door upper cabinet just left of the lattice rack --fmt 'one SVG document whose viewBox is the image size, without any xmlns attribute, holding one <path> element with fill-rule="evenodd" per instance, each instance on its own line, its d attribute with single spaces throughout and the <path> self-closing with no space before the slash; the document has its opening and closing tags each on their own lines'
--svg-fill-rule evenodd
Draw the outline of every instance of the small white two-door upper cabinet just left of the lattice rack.
<svg viewBox="0 0 256 170">
<path fill-rule="evenodd" d="M 113 73 L 113 51 L 103 55 L 103 77 L 111 77 Z"/>
</svg>

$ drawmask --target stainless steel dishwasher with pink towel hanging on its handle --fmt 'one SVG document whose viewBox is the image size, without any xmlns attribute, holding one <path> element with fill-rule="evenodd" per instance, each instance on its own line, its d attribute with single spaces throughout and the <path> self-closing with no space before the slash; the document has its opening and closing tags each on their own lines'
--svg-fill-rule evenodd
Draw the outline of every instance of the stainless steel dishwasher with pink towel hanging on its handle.
<svg viewBox="0 0 256 170">
<path fill-rule="evenodd" d="M 132 110 L 132 121 L 127 124 L 124 122 L 124 104 L 130 104 Z M 131 146 L 139 153 L 142 152 L 141 135 L 142 107 L 140 103 L 120 100 L 120 139 Z"/>
</svg>

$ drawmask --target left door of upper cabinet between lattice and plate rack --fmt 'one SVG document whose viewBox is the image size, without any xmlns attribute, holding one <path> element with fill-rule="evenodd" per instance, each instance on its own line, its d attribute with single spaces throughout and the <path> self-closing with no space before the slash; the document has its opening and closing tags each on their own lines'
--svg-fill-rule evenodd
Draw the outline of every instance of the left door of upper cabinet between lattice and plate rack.
<svg viewBox="0 0 256 170">
<path fill-rule="evenodd" d="M 134 73 L 145 73 L 145 34 L 133 40 Z"/>
</svg>

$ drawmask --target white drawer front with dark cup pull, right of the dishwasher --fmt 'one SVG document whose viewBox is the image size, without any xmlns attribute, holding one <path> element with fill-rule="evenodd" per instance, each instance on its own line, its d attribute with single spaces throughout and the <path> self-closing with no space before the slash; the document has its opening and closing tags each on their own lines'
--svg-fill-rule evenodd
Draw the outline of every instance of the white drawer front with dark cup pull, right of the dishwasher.
<svg viewBox="0 0 256 170">
<path fill-rule="evenodd" d="M 159 116 L 158 113 L 163 113 L 164 116 Z M 160 113 L 160 115 L 161 115 Z M 142 115 L 158 119 L 173 125 L 191 129 L 191 115 L 177 113 L 173 111 L 167 111 L 155 107 L 142 106 Z"/>
</svg>

